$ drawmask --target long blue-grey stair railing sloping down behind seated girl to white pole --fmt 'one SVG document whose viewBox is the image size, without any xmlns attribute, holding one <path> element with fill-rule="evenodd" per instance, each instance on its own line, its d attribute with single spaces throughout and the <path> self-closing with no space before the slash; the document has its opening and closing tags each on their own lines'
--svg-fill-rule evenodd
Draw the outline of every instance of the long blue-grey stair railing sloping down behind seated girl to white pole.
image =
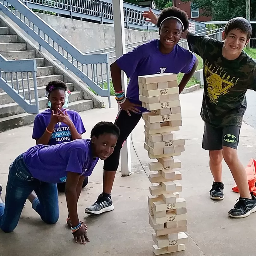
<svg viewBox="0 0 256 256">
<path fill-rule="evenodd" d="M 0 10 L 39 44 L 39 50 L 43 47 L 97 94 L 108 97 L 111 107 L 109 77 L 107 77 L 107 89 L 104 89 L 103 81 L 101 84 L 96 83 L 88 77 L 88 66 L 94 71 L 95 66 L 100 65 L 102 70 L 102 64 L 106 65 L 108 76 L 107 54 L 83 54 L 19 0 L 1 0 Z"/>
</svg>

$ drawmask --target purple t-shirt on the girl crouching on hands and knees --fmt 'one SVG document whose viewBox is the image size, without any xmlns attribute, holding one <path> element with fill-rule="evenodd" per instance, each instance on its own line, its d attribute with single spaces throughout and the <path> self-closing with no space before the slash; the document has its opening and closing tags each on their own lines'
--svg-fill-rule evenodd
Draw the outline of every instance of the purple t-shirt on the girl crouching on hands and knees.
<svg viewBox="0 0 256 256">
<path fill-rule="evenodd" d="M 67 173 L 90 176 L 99 161 L 93 158 L 90 139 L 80 139 L 57 145 L 36 145 L 28 149 L 23 160 L 35 179 L 47 183 L 66 182 Z"/>
</svg>

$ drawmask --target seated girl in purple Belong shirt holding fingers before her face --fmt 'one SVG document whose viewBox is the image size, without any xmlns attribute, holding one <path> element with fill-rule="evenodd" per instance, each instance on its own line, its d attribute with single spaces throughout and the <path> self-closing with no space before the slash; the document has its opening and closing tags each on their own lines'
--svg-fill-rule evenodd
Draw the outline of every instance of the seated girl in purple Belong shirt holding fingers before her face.
<svg viewBox="0 0 256 256">
<path fill-rule="evenodd" d="M 63 109 L 66 90 L 66 84 L 60 80 L 47 84 L 51 108 L 35 117 L 32 138 L 37 145 L 56 145 L 81 139 L 81 135 L 86 132 L 80 115 L 74 110 Z M 83 187 L 87 184 L 88 178 L 84 180 Z M 59 192 L 64 192 L 65 182 L 57 184 L 57 187 Z"/>
</svg>

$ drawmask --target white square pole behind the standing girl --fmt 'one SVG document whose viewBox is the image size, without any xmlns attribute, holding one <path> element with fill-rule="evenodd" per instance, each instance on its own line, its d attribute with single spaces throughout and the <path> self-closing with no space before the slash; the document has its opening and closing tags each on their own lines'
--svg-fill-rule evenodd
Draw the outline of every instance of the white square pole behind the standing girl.
<svg viewBox="0 0 256 256">
<path fill-rule="evenodd" d="M 113 0 L 113 16 L 115 29 L 115 51 L 116 58 L 125 53 L 125 22 L 123 0 Z M 126 93 L 127 76 L 122 71 L 122 88 Z M 131 137 L 129 136 L 121 149 L 121 174 L 131 175 Z"/>
</svg>

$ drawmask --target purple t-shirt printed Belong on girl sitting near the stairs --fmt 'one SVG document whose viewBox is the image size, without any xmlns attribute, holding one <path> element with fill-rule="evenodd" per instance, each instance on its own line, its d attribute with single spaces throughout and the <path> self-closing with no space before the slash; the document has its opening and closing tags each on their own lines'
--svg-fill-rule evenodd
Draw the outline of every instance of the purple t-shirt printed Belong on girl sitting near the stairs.
<svg viewBox="0 0 256 256">
<path fill-rule="evenodd" d="M 76 131 L 79 134 L 85 133 L 86 131 L 83 126 L 81 116 L 74 110 L 67 109 L 66 111 L 68 116 L 72 120 L 73 124 L 75 125 Z M 39 139 L 44 134 L 46 127 L 50 123 L 51 115 L 52 115 L 51 109 L 46 109 L 42 113 L 39 113 L 38 115 L 36 115 L 34 120 L 33 134 L 32 134 L 33 139 Z M 72 140 L 73 139 L 71 137 L 69 126 L 62 122 L 58 122 L 53 129 L 53 133 L 50 137 L 48 145 L 56 145 L 59 143 L 69 142 Z"/>
</svg>

